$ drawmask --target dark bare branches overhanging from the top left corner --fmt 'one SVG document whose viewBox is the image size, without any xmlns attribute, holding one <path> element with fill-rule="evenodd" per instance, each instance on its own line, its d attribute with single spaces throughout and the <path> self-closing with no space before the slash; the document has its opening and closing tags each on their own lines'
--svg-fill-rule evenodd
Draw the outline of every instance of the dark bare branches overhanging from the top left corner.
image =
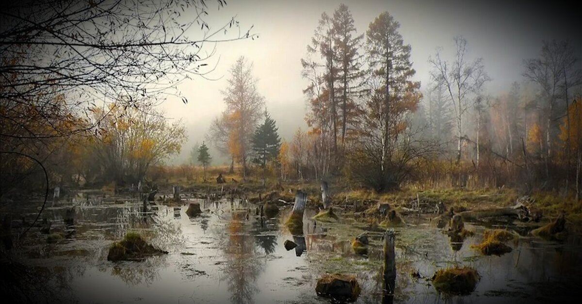
<svg viewBox="0 0 582 304">
<path fill-rule="evenodd" d="M 95 104 L 179 95 L 176 84 L 205 77 L 215 45 L 254 38 L 235 19 L 207 22 L 222 0 L 3 1 L 0 6 L 2 139 L 46 139 L 92 130 L 94 124 L 59 128 L 69 114 L 91 116 Z M 209 48 L 210 47 L 210 48 Z M 164 94 L 164 95 L 161 95 Z M 118 98 L 127 96 L 130 98 Z M 139 97 L 139 98 L 133 98 Z M 41 100 L 41 101 L 39 101 Z M 187 102 L 182 97 L 183 102 Z M 24 109 L 43 115 L 49 129 L 35 130 Z M 48 109 L 60 108 L 59 115 Z M 70 119 L 69 119 L 70 121 Z M 7 130 L 6 128 L 1 128 Z"/>
</svg>

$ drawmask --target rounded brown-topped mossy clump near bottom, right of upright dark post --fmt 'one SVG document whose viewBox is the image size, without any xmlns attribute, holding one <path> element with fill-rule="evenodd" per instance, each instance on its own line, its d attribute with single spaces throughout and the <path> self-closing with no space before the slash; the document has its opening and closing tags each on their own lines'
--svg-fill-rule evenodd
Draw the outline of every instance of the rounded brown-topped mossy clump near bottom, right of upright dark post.
<svg viewBox="0 0 582 304">
<path fill-rule="evenodd" d="M 437 270 L 432 276 L 432 285 L 443 294 L 468 295 L 475 290 L 479 279 L 474 268 L 445 268 Z"/>
</svg>

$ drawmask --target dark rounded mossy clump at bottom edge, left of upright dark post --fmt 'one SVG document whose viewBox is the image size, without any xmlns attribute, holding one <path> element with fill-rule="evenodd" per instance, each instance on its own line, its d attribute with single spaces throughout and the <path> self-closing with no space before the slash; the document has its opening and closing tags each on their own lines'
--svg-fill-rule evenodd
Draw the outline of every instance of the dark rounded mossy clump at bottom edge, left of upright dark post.
<svg viewBox="0 0 582 304">
<path fill-rule="evenodd" d="M 360 295 L 360 284 L 354 275 L 324 274 L 315 285 L 315 292 L 319 296 L 331 298 L 334 301 L 356 301 Z"/>
</svg>

